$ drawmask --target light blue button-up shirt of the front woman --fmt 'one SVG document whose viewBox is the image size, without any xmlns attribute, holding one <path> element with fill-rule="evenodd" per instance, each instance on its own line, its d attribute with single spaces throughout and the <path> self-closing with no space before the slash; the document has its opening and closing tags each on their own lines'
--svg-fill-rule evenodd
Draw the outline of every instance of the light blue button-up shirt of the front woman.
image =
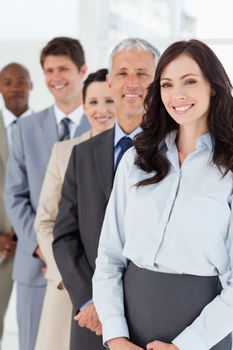
<svg viewBox="0 0 233 350">
<path fill-rule="evenodd" d="M 162 146 L 171 168 L 157 184 L 134 186 L 153 175 L 134 165 L 134 148 L 118 167 L 93 278 L 104 341 L 129 336 L 121 281 L 127 260 L 179 274 L 228 272 L 221 295 L 173 342 L 181 350 L 208 350 L 233 330 L 233 174 L 222 177 L 211 162 L 210 134 L 197 140 L 181 167 L 175 139 L 172 132 Z"/>
</svg>

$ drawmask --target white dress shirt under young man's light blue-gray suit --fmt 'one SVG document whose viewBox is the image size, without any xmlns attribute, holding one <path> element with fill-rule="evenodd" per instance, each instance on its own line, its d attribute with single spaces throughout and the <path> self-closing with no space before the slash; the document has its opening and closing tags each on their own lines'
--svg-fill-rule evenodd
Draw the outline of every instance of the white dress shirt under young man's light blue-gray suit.
<svg viewBox="0 0 233 350">
<path fill-rule="evenodd" d="M 70 138 L 72 139 L 75 135 L 76 129 L 79 126 L 82 116 L 83 116 L 83 106 L 79 106 L 70 114 L 65 114 L 61 109 L 58 108 L 57 105 L 54 105 L 54 113 L 56 117 L 56 123 L 58 128 L 58 135 L 62 133 L 61 121 L 63 118 L 67 117 L 71 120 L 69 125 L 70 129 Z"/>
</svg>

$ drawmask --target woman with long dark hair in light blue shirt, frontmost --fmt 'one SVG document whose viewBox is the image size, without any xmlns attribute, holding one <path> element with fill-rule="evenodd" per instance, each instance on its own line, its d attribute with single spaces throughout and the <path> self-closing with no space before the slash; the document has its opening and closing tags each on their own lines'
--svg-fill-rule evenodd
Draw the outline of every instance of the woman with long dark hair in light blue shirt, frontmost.
<svg viewBox="0 0 233 350">
<path fill-rule="evenodd" d="M 231 349 L 231 90 L 203 42 L 161 56 L 99 243 L 94 303 L 111 350 Z"/>
</svg>

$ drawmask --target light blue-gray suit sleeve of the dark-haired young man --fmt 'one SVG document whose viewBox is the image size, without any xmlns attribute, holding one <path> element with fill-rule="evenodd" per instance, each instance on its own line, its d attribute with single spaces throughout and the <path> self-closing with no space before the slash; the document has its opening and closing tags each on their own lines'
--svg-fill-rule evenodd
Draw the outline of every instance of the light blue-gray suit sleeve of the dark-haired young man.
<svg viewBox="0 0 233 350">
<path fill-rule="evenodd" d="M 33 228 L 35 211 L 30 202 L 30 189 L 25 161 L 21 125 L 14 128 L 14 142 L 7 162 L 4 200 L 7 214 L 16 231 L 18 242 L 29 254 L 36 246 Z"/>
</svg>

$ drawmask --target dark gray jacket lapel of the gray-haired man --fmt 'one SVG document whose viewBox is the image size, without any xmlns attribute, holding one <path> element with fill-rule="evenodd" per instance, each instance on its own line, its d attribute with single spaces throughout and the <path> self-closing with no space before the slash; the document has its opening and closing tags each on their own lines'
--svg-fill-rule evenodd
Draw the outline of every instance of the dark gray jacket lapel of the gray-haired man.
<svg viewBox="0 0 233 350">
<path fill-rule="evenodd" d="M 95 166 L 100 185 L 108 200 L 114 176 L 114 128 L 103 135 L 94 148 Z"/>
</svg>

